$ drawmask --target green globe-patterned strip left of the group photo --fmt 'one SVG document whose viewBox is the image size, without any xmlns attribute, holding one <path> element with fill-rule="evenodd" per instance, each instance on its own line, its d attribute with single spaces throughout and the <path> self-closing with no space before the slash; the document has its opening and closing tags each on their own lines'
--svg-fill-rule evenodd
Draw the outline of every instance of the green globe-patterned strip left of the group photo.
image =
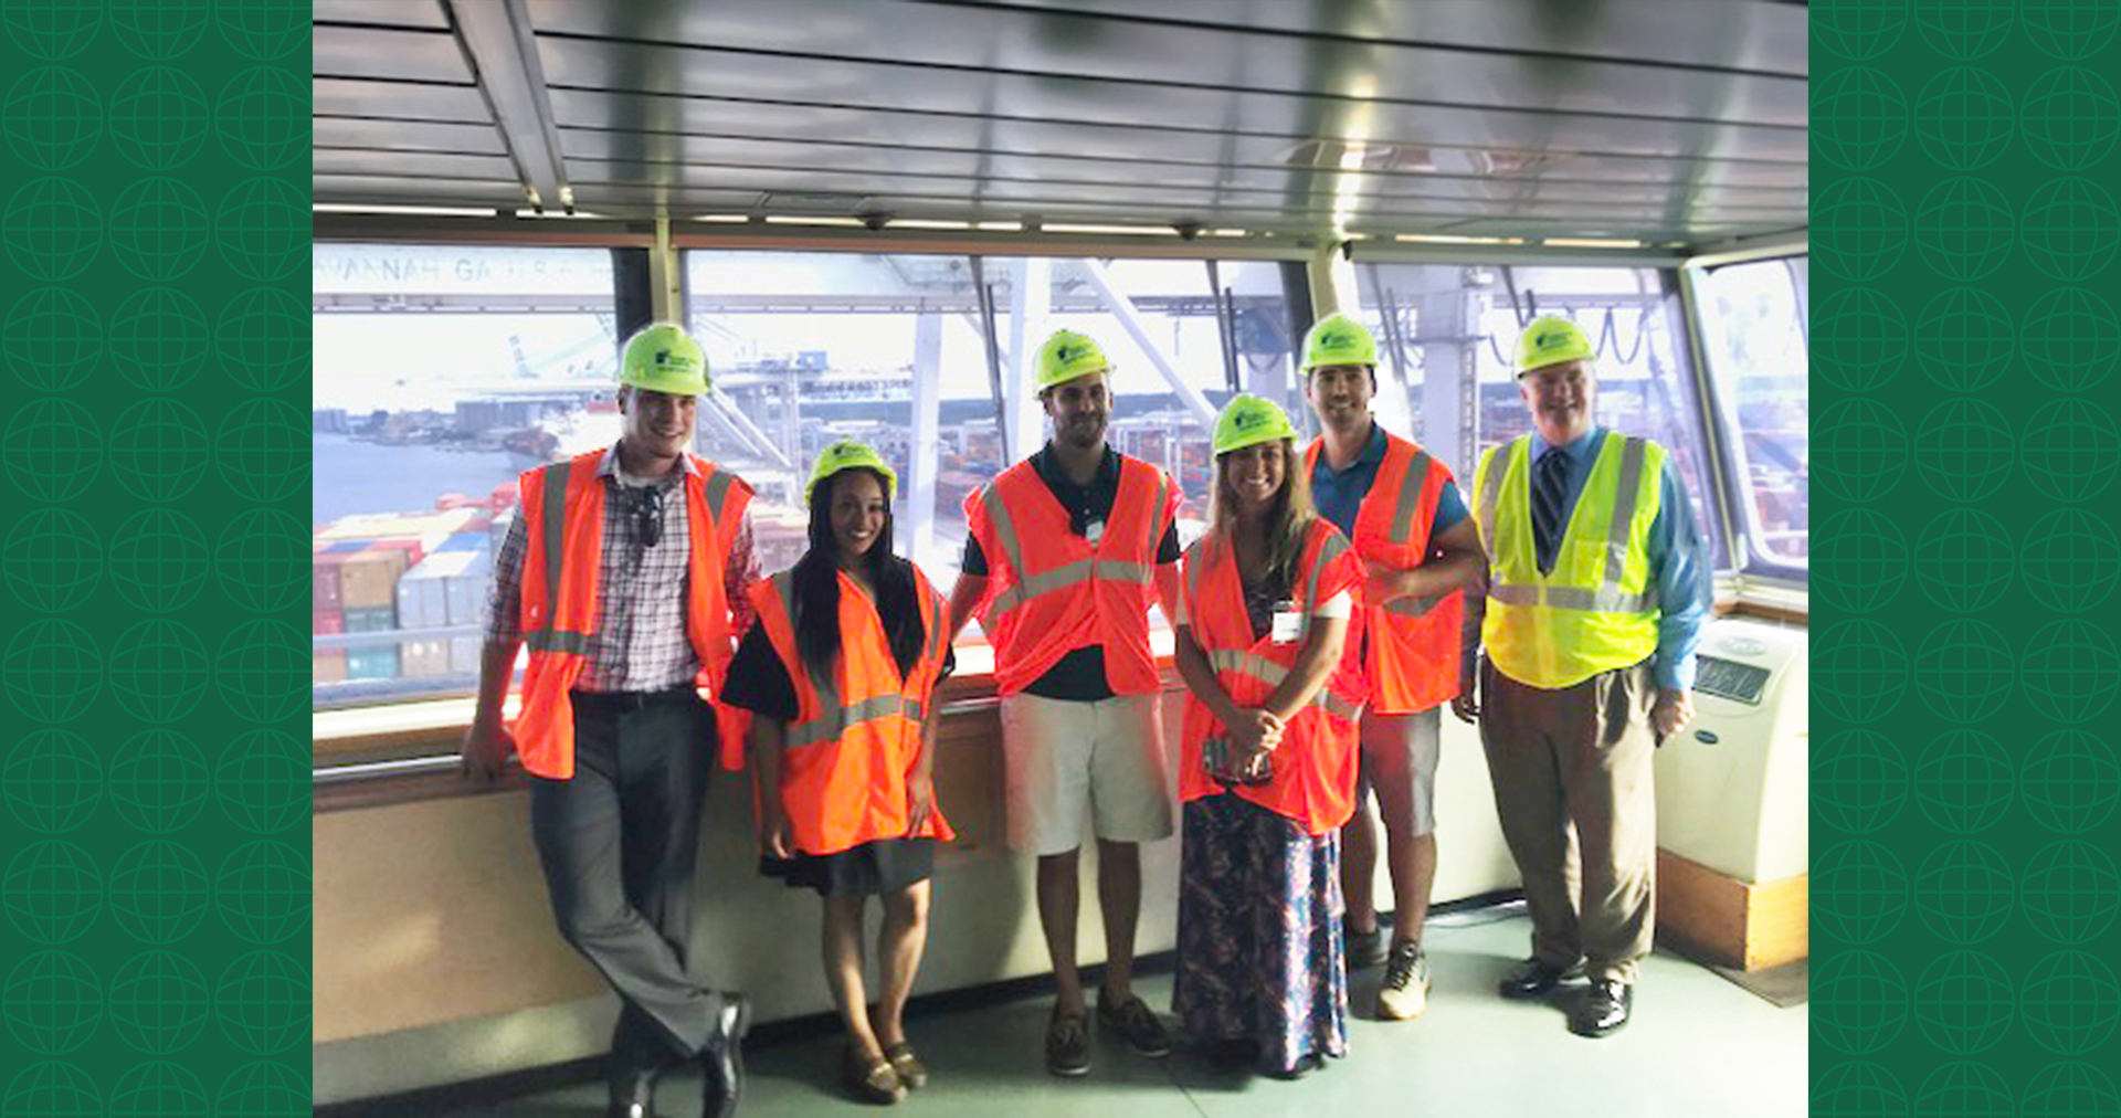
<svg viewBox="0 0 2121 1118">
<path fill-rule="evenodd" d="M 0 1114 L 308 1114 L 310 8 L 0 21 Z"/>
</svg>

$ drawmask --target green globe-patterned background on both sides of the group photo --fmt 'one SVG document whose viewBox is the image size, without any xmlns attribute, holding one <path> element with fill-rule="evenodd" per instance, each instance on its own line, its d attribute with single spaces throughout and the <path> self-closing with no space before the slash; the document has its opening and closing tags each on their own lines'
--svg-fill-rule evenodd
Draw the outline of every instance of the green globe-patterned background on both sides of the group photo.
<svg viewBox="0 0 2121 1118">
<path fill-rule="evenodd" d="M 308 4 L 11 0 L 0 1112 L 305 1114 Z M 1813 1112 L 2121 1112 L 2121 6 L 1813 6 Z"/>
</svg>

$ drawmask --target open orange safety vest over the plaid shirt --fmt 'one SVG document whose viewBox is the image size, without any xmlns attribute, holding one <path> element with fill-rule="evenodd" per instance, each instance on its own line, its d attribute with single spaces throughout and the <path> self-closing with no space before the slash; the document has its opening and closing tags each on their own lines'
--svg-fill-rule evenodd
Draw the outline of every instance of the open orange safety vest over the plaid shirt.
<svg viewBox="0 0 2121 1118">
<path fill-rule="evenodd" d="M 588 664 L 596 626 L 596 579 L 604 556 L 604 479 L 596 475 L 607 450 L 522 475 L 522 518 L 528 532 L 522 577 L 522 628 L 530 645 L 524 702 L 515 717 L 515 751 L 526 772 L 566 781 L 575 776 L 575 706 L 566 694 Z M 691 458 L 685 475 L 689 569 L 685 575 L 685 636 L 700 658 L 698 685 L 721 692 L 732 647 L 730 600 L 721 564 L 751 505 L 742 477 Z M 715 706 L 721 759 L 738 768 L 751 719 L 734 706 Z M 734 743 L 734 749 L 732 749 Z M 738 764 L 732 764 L 736 759 Z"/>
</svg>

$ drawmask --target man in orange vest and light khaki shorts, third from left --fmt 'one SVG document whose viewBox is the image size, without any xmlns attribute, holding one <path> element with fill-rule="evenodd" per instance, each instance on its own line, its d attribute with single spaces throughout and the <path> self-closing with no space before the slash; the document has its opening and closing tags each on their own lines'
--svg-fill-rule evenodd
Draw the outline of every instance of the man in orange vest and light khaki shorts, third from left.
<svg viewBox="0 0 2121 1118">
<path fill-rule="evenodd" d="M 1054 961 L 1046 1069 L 1090 1069 L 1075 972 L 1082 821 L 1097 834 L 1105 982 L 1097 1020 L 1143 1056 L 1171 1040 L 1133 993 L 1141 842 L 1171 836 L 1171 783 L 1150 656 L 1150 602 L 1177 600 L 1179 492 L 1160 469 L 1105 446 L 1111 365 L 1097 342 L 1054 333 L 1037 356 L 1052 439 L 965 499 L 965 562 L 950 632 L 980 613 L 995 643 L 1010 846 L 1039 859 L 1039 925 Z"/>
</svg>

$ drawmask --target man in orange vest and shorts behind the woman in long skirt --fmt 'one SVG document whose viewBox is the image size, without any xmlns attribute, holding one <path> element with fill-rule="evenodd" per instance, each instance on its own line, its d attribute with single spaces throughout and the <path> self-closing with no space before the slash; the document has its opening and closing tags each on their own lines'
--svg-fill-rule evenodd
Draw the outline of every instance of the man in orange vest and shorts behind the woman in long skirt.
<svg viewBox="0 0 2121 1118">
<path fill-rule="evenodd" d="M 1406 1020 L 1427 1010 L 1430 959 L 1421 925 L 1436 883 L 1436 759 L 1442 704 L 1459 692 L 1463 588 L 1487 571 L 1480 535 L 1451 469 L 1370 414 L 1377 339 L 1345 314 L 1319 318 L 1304 337 L 1304 397 L 1321 435 L 1309 448 L 1311 499 L 1362 556 L 1370 577 L 1362 670 L 1362 785 L 1355 817 L 1340 827 L 1347 891 L 1347 965 L 1385 963 L 1377 1016 Z M 1370 808 L 1370 791 L 1377 808 Z M 1377 815 L 1396 904 L 1387 950 L 1377 921 Z"/>
</svg>

